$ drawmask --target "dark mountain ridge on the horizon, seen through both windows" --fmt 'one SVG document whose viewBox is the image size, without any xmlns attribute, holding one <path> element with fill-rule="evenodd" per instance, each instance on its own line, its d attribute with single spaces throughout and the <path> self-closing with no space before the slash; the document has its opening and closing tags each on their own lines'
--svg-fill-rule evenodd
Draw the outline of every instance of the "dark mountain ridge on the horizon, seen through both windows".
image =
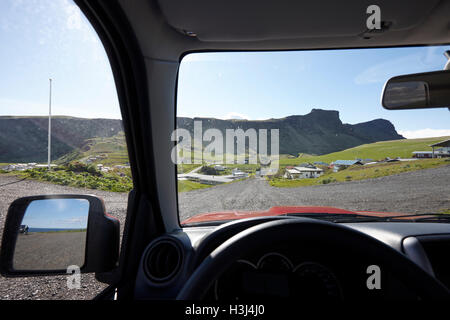
<svg viewBox="0 0 450 320">
<path fill-rule="evenodd" d="M 268 129 L 269 137 L 270 129 L 279 129 L 281 154 L 320 155 L 365 143 L 404 139 L 388 120 L 344 124 L 336 110 L 312 109 L 306 115 L 266 120 L 178 117 L 177 127 L 189 130 L 193 137 L 195 120 L 202 120 L 203 132 L 217 128 L 224 137 L 226 129 Z M 47 128 L 46 116 L 0 116 L 0 162 L 46 161 Z M 83 148 L 88 139 L 112 137 L 121 131 L 122 121 L 118 119 L 53 116 L 52 159 Z"/>
</svg>

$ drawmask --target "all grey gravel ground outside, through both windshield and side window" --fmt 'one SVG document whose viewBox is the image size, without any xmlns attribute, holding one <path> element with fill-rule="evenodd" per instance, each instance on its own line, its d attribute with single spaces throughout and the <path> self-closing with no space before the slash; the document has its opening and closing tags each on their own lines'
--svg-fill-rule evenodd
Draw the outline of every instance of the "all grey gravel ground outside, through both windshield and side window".
<svg viewBox="0 0 450 320">
<path fill-rule="evenodd" d="M 260 178 L 179 195 L 181 219 L 221 210 L 266 210 L 279 205 L 335 206 L 349 210 L 420 213 L 450 208 L 450 166 L 364 181 L 299 188 L 275 188 Z M 127 194 L 64 187 L 0 175 L 0 235 L 9 204 L 16 198 L 55 193 L 95 194 L 106 210 L 125 222 Z M 81 276 L 81 289 L 68 289 L 67 277 L 0 277 L 0 299 L 92 299 L 106 285 L 93 274 Z"/>
</svg>

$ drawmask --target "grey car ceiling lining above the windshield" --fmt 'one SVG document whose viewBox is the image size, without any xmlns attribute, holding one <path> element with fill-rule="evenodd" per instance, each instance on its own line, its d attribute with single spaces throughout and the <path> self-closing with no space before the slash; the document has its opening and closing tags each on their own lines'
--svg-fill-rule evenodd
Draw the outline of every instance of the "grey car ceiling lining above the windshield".
<svg viewBox="0 0 450 320">
<path fill-rule="evenodd" d="M 372 0 L 120 0 L 146 57 L 186 52 L 295 50 L 445 44 L 450 2 L 379 0 L 390 27 L 367 34 Z M 189 36 L 187 33 L 195 34 Z M 369 39 L 367 39 L 369 37 Z"/>
</svg>

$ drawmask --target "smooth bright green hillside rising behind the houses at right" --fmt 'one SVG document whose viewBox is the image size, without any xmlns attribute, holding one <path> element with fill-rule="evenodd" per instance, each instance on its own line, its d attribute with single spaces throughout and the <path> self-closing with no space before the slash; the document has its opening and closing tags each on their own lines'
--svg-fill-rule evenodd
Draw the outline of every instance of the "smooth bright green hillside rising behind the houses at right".
<svg viewBox="0 0 450 320">
<path fill-rule="evenodd" d="M 402 139 L 363 144 L 354 148 L 321 156 L 301 155 L 297 158 L 282 158 L 280 166 L 295 166 L 303 162 L 323 161 L 330 163 L 335 160 L 373 159 L 382 160 L 390 158 L 411 158 L 413 151 L 431 151 L 430 144 L 434 144 L 450 137 Z"/>
</svg>

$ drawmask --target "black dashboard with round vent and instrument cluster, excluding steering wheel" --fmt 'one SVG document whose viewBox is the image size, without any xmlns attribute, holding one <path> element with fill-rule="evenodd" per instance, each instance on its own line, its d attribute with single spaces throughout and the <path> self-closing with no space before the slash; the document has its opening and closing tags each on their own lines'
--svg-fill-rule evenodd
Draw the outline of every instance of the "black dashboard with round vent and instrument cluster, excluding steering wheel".
<svg viewBox="0 0 450 320">
<path fill-rule="evenodd" d="M 245 228 L 265 221 L 255 219 L 217 227 L 189 227 L 155 239 L 143 254 L 135 298 L 175 299 L 199 264 L 216 247 Z M 447 261 L 450 224 L 367 222 L 344 225 L 387 244 L 450 288 L 450 263 Z M 368 290 L 371 266 L 381 270 L 381 290 Z M 355 256 L 352 250 L 333 245 L 333 239 L 315 243 L 274 243 L 233 262 L 218 275 L 204 300 L 417 298 L 408 283 L 393 276 L 391 267 L 381 261 Z M 159 277 L 154 276 L 155 270 Z"/>
</svg>

